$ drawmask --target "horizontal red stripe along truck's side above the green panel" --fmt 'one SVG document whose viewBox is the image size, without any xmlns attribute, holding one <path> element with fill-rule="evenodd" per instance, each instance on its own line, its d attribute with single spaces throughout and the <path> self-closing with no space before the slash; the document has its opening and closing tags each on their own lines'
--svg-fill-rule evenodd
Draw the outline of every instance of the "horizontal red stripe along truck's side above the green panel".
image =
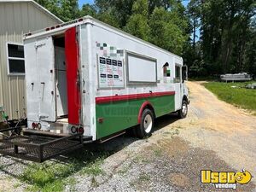
<svg viewBox="0 0 256 192">
<path fill-rule="evenodd" d="M 96 97 L 96 104 L 108 103 L 108 102 L 119 102 L 125 100 L 144 99 L 155 96 L 173 96 L 175 91 L 163 91 L 163 92 L 152 92 L 152 93 L 139 93 L 122 96 L 100 96 Z"/>
</svg>

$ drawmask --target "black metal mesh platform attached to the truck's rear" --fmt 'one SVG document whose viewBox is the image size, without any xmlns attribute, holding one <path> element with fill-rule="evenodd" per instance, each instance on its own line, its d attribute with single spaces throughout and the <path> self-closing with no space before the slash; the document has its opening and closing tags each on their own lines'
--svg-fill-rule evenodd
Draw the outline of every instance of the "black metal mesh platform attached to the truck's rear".
<svg viewBox="0 0 256 192">
<path fill-rule="evenodd" d="M 3 130 L 1 130 L 3 131 Z M 34 132 L 34 134 L 32 134 Z M 31 131 L 29 135 L 13 135 L 0 139 L 0 154 L 17 157 L 24 160 L 44 162 L 82 148 L 84 136 L 81 134 L 61 135 L 52 137 L 49 134 L 36 134 L 42 131 Z M 21 134 L 23 134 L 21 132 Z M 90 137 L 86 137 L 90 139 Z"/>
</svg>

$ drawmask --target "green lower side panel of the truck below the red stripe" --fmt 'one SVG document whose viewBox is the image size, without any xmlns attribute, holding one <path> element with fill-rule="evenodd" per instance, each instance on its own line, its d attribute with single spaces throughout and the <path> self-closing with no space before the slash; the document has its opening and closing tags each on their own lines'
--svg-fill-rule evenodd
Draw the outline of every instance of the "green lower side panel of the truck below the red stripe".
<svg viewBox="0 0 256 192">
<path fill-rule="evenodd" d="M 139 110 L 143 102 L 151 103 L 156 117 L 175 110 L 174 95 L 96 104 L 97 139 L 137 125 Z"/>
</svg>

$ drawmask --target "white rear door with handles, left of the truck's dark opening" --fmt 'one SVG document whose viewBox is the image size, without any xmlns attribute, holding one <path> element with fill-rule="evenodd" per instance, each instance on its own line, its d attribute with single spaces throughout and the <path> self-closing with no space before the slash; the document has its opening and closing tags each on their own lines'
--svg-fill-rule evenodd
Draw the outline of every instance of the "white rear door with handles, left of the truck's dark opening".
<svg viewBox="0 0 256 192">
<path fill-rule="evenodd" d="M 55 122 L 55 50 L 53 39 L 51 37 L 38 39 L 35 47 L 38 63 L 39 119 Z"/>
</svg>

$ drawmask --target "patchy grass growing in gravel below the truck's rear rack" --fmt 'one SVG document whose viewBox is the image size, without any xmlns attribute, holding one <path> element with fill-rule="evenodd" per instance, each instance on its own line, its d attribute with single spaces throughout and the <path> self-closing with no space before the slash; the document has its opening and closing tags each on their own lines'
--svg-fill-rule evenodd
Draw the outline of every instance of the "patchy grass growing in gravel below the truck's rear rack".
<svg viewBox="0 0 256 192">
<path fill-rule="evenodd" d="M 62 191 L 66 185 L 73 189 L 75 181 L 72 176 L 74 173 L 99 175 L 102 174 L 102 163 L 110 155 L 106 151 L 89 152 L 79 150 L 69 154 L 65 161 L 48 160 L 42 164 L 31 164 L 20 175 L 22 182 L 30 186 L 28 191 Z"/>
</svg>

